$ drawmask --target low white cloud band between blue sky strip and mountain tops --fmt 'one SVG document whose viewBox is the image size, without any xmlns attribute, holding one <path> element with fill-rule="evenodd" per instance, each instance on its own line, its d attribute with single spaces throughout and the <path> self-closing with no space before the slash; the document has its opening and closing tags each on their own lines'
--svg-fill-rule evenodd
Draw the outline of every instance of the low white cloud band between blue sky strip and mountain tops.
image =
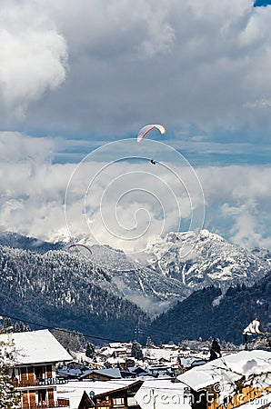
<svg viewBox="0 0 271 409">
<path fill-rule="evenodd" d="M 187 165 L 99 162 L 99 150 L 77 166 L 59 165 L 52 160 L 61 141 L 19 133 L 0 135 L 0 145 L 2 230 L 51 240 L 84 234 L 132 252 L 177 231 L 180 222 L 186 230 L 192 216 L 191 229 L 202 227 L 204 198 Z M 206 198 L 205 227 L 236 244 L 271 248 L 270 167 L 208 166 L 196 175 Z"/>
</svg>

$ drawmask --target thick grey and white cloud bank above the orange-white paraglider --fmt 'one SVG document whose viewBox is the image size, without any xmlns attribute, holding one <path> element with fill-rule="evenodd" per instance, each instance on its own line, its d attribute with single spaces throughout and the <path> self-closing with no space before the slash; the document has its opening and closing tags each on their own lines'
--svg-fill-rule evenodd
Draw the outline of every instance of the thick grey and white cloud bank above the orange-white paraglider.
<svg viewBox="0 0 271 409">
<path fill-rule="evenodd" d="M 38 99 L 28 126 L 90 137 L 154 121 L 174 131 L 196 124 L 213 138 L 217 129 L 270 130 L 269 6 L 30 0 L 0 10 L 1 99 L 23 111 Z"/>
</svg>

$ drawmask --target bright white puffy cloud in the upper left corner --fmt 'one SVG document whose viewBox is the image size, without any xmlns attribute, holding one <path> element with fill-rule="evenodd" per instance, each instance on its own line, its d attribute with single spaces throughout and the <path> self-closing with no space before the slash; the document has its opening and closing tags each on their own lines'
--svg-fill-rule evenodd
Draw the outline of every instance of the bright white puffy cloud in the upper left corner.
<svg viewBox="0 0 271 409">
<path fill-rule="evenodd" d="M 20 117 L 65 81 L 67 48 L 38 2 L 2 2 L 0 12 L 0 96 L 9 116 Z"/>
</svg>

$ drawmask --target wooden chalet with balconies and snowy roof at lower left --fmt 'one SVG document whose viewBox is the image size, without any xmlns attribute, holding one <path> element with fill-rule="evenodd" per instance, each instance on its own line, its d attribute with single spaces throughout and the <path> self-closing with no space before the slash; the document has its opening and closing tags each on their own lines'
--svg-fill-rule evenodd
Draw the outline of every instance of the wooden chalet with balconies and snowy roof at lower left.
<svg viewBox="0 0 271 409">
<path fill-rule="evenodd" d="M 69 407 L 68 401 L 58 401 L 56 384 L 66 381 L 56 377 L 55 365 L 68 362 L 72 356 L 48 330 L 0 334 L 0 342 L 15 350 L 12 369 L 15 388 L 21 392 L 21 408 Z"/>
</svg>

